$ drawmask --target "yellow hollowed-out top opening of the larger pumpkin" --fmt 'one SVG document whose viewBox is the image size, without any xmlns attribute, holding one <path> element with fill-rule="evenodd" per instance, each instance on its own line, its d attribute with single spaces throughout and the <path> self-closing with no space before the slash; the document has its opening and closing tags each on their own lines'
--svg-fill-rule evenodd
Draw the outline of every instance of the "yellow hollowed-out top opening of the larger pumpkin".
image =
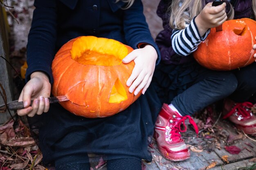
<svg viewBox="0 0 256 170">
<path fill-rule="evenodd" d="M 112 39 L 86 36 L 72 44 L 71 57 L 84 65 L 116 66 L 126 57 L 128 49 Z"/>
</svg>

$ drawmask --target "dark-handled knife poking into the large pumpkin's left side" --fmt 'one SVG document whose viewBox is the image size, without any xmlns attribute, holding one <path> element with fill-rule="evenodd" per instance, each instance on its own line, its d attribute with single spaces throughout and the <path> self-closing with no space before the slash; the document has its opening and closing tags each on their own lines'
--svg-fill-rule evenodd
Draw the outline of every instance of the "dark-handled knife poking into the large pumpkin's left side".
<svg viewBox="0 0 256 170">
<path fill-rule="evenodd" d="M 49 103 L 56 103 L 56 102 L 63 102 L 63 101 L 67 101 L 67 97 L 66 96 L 56 96 L 56 97 L 47 97 L 49 99 Z M 31 104 L 32 105 L 34 99 L 31 100 Z M 0 108 L 4 107 L 5 104 L 1 105 Z M 9 110 L 19 110 L 24 108 L 23 102 L 18 102 L 18 100 L 12 101 L 7 103 L 7 106 L 9 108 Z"/>
</svg>

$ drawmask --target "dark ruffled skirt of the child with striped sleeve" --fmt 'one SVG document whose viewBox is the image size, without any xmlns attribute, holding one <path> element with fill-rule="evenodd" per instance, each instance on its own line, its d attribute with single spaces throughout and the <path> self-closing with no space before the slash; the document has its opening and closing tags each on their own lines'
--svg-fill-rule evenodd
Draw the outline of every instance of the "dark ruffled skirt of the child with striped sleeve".
<svg viewBox="0 0 256 170">
<path fill-rule="evenodd" d="M 188 56 L 189 57 L 189 56 Z M 200 72 L 206 70 L 194 59 L 185 64 L 159 64 L 153 84 L 161 103 L 170 104 L 173 98 L 192 86 Z"/>
</svg>

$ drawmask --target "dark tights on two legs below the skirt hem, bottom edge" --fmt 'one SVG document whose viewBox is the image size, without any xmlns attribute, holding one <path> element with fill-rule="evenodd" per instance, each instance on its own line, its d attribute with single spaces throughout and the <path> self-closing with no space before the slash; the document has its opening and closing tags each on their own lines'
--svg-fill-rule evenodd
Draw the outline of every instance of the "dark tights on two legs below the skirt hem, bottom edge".
<svg viewBox="0 0 256 170">
<path fill-rule="evenodd" d="M 108 170 L 141 170 L 141 161 L 137 159 L 112 159 L 107 161 Z M 90 170 L 90 163 L 59 163 L 55 170 Z"/>
</svg>

